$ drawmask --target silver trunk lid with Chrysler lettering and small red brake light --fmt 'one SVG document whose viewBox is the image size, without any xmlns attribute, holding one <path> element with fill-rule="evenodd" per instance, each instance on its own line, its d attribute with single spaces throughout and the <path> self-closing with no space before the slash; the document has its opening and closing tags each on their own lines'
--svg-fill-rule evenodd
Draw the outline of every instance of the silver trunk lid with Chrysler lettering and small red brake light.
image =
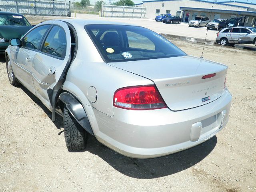
<svg viewBox="0 0 256 192">
<path fill-rule="evenodd" d="M 224 94 L 227 66 L 202 58 L 181 56 L 108 64 L 152 80 L 174 111 L 207 104 Z M 202 79 L 213 73 L 216 75 Z"/>
</svg>

